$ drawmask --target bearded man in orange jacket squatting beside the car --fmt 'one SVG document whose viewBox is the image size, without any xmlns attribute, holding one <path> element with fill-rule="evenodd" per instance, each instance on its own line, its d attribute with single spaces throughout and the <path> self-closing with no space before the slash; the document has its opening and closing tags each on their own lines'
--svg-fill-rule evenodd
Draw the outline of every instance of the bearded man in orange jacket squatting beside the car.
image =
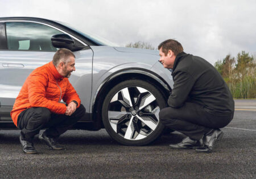
<svg viewBox="0 0 256 179">
<path fill-rule="evenodd" d="M 24 153 L 37 153 L 32 140 L 42 128 L 47 129 L 39 139 L 51 149 L 63 149 L 56 139 L 84 116 L 85 108 L 68 80 L 75 70 L 75 55 L 61 48 L 50 63 L 27 77 L 11 111 Z"/>
</svg>

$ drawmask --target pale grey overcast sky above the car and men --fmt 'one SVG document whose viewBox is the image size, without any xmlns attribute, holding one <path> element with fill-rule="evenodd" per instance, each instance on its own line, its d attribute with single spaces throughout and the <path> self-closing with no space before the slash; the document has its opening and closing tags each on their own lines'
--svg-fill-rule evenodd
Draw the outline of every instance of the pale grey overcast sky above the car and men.
<svg viewBox="0 0 256 179">
<path fill-rule="evenodd" d="M 0 7 L 1 17 L 59 20 L 120 46 L 176 39 L 212 64 L 241 51 L 256 55 L 255 0 L 0 0 Z"/>
</svg>

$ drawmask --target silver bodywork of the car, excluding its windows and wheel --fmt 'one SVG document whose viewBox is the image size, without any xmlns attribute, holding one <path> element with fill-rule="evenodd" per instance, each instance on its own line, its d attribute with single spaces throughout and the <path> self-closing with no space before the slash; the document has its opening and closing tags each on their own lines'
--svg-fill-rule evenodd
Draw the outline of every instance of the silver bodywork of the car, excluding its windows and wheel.
<svg viewBox="0 0 256 179">
<path fill-rule="evenodd" d="M 3 29 L 8 22 L 42 24 L 71 36 L 84 46 L 83 49 L 73 52 L 76 56 L 76 71 L 72 72 L 69 78 L 86 109 L 86 115 L 80 122 L 101 121 L 98 119 L 101 118 L 98 108 L 102 105 L 99 101 L 104 100 L 108 90 L 113 87 L 111 84 L 114 80 L 116 82 L 117 79 L 150 79 L 152 85 L 163 89 L 162 92 L 166 96 L 172 89 L 171 72 L 159 63 L 159 52 L 156 50 L 112 47 L 103 43 L 97 44 L 97 41 L 93 44 L 90 43 L 90 36 L 79 34 L 78 31 L 64 27 L 58 22 L 49 20 L 48 23 L 47 19 L 39 18 L 0 18 L 0 41 L 1 38 L 2 41 L 6 40 L 3 39 Z M 84 40 L 86 38 L 87 41 Z M 12 123 L 10 110 L 24 81 L 32 70 L 49 63 L 55 51 L 1 49 L 1 46 L 3 44 L 0 44 L 0 128 L 5 128 L 3 124 Z M 102 127 L 100 122 L 89 130 L 99 130 Z"/>
</svg>

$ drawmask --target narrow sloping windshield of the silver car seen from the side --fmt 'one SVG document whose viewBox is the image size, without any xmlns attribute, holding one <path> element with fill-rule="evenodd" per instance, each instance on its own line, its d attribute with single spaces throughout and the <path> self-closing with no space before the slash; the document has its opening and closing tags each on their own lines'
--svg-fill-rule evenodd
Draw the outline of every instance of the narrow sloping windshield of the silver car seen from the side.
<svg viewBox="0 0 256 179">
<path fill-rule="evenodd" d="M 79 34 L 85 36 L 85 38 L 91 39 L 92 41 L 95 41 L 98 44 L 105 45 L 105 46 L 119 47 L 119 45 L 113 43 L 112 41 L 106 40 L 106 39 L 104 39 L 104 38 L 102 38 L 100 36 L 94 35 L 94 34 L 92 34 L 90 32 L 85 32 L 84 33 L 84 32 L 82 32 L 80 30 L 77 30 L 76 28 L 72 27 L 68 23 L 59 22 L 59 21 L 57 21 L 57 22 L 60 23 L 60 24 L 63 24 L 64 26 L 67 26 L 68 28 L 71 28 L 73 31 L 78 32 Z"/>
</svg>

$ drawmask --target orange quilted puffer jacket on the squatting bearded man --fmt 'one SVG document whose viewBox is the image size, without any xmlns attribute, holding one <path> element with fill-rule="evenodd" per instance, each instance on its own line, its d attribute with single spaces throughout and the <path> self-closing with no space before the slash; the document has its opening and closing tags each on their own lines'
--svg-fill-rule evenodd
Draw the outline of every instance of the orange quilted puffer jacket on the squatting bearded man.
<svg viewBox="0 0 256 179">
<path fill-rule="evenodd" d="M 52 61 L 36 68 L 24 82 L 18 97 L 15 100 L 11 118 L 17 126 L 19 114 L 30 107 L 46 107 L 51 113 L 65 114 L 67 109 L 64 103 L 76 101 L 77 107 L 81 100 L 68 78 L 57 72 Z"/>
</svg>

